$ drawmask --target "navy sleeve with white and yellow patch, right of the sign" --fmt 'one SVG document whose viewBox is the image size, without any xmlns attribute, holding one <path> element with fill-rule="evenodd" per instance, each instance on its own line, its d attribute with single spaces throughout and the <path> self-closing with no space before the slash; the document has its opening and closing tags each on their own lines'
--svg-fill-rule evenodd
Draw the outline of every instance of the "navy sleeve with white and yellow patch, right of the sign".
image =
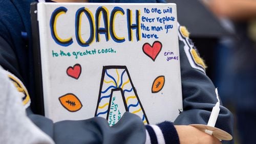
<svg viewBox="0 0 256 144">
<path fill-rule="evenodd" d="M 206 66 L 199 57 L 194 43 L 188 38 L 189 33 L 186 28 L 179 26 L 178 33 L 183 111 L 176 118 L 174 124 L 207 124 L 212 107 L 218 102 L 215 86 L 206 76 Z M 232 113 L 223 106 L 220 106 L 215 127 L 233 134 Z"/>
</svg>

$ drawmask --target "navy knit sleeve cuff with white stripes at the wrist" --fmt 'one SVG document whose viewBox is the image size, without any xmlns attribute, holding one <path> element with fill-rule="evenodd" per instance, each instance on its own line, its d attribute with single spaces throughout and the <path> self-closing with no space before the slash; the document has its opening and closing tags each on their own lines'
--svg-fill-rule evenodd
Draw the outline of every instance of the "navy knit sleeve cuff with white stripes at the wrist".
<svg viewBox="0 0 256 144">
<path fill-rule="evenodd" d="M 179 144 L 179 136 L 170 122 L 163 122 L 157 125 L 146 125 L 146 144 L 171 143 Z"/>
</svg>

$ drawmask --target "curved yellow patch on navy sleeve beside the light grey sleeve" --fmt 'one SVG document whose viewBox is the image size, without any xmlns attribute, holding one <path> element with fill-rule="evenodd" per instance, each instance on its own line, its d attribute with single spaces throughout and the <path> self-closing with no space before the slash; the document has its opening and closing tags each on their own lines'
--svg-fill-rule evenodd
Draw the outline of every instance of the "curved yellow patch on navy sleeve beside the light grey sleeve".
<svg viewBox="0 0 256 144">
<path fill-rule="evenodd" d="M 17 88 L 17 90 L 19 92 L 22 92 L 22 101 L 23 101 L 23 105 L 27 108 L 30 106 L 30 97 L 29 97 L 29 93 L 28 90 L 26 89 L 26 87 L 24 86 L 24 84 L 22 83 L 22 81 L 20 81 L 17 77 L 15 77 L 13 74 L 11 74 L 9 71 L 7 71 L 8 73 L 8 77 L 9 79 L 12 81 L 12 83 L 14 84 L 14 86 Z"/>
</svg>

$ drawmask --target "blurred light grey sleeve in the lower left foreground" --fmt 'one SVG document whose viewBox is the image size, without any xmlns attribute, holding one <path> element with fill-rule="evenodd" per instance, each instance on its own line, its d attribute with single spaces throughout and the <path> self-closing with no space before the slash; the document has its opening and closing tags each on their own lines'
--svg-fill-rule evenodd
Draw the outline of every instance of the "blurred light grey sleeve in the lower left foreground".
<svg viewBox="0 0 256 144">
<path fill-rule="evenodd" d="M 8 73 L 0 65 L 0 143 L 54 143 L 26 116 L 20 99 L 24 94 L 17 91 Z"/>
</svg>

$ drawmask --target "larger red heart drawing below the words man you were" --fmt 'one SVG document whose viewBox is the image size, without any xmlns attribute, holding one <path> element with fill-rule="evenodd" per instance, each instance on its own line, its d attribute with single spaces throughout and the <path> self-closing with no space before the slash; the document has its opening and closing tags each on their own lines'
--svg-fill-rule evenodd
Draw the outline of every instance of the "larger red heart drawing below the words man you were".
<svg viewBox="0 0 256 144">
<path fill-rule="evenodd" d="M 160 41 L 155 41 L 153 43 L 153 46 L 151 46 L 149 43 L 144 43 L 142 46 L 142 50 L 148 57 L 155 61 L 158 54 L 162 50 L 162 43 Z"/>
</svg>

